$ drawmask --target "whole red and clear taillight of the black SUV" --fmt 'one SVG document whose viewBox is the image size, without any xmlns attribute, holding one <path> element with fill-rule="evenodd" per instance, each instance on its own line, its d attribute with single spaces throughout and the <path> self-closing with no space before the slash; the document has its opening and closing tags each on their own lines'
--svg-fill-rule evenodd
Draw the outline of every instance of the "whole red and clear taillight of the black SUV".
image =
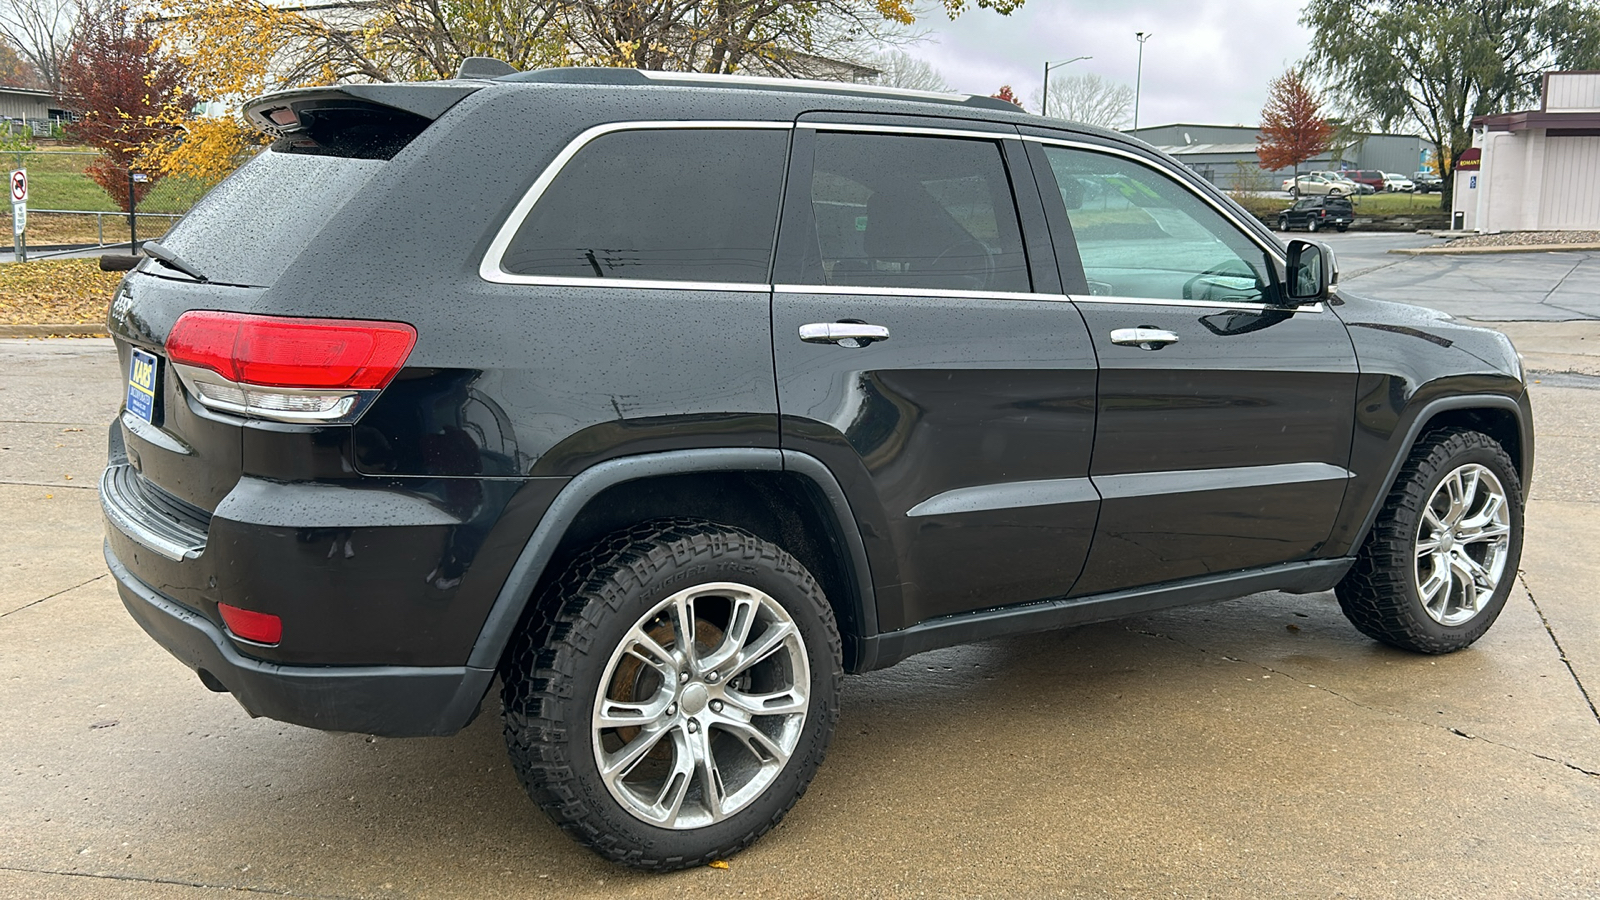
<svg viewBox="0 0 1600 900">
<path fill-rule="evenodd" d="M 195 309 L 166 336 L 173 370 L 200 404 L 277 421 L 355 421 L 405 365 L 405 322 L 290 319 Z"/>
</svg>

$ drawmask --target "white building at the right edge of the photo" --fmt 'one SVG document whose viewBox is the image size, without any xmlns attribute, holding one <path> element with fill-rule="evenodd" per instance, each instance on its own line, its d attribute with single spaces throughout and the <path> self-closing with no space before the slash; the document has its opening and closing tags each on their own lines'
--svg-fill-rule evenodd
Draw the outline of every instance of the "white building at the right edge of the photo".
<svg viewBox="0 0 1600 900">
<path fill-rule="evenodd" d="M 1600 72 L 1546 72 L 1539 109 L 1472 125 L 1456 170 L 1461 227 L 1600 231 Z"/>
</svg>

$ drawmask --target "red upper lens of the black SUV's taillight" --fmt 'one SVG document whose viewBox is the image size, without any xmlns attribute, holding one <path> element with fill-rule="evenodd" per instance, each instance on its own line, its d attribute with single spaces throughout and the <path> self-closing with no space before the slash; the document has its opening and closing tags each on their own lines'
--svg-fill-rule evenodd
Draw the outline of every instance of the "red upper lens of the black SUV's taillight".
<svg viewBox="0 0 1600 900">
<path fill-rule="evenodd" d="M 166 336 L 173 362 L 266 388 L 379 391 L 400 372 L 416 328 L 405 322 L 290 319 L 194 309 Z"/>
</svg>

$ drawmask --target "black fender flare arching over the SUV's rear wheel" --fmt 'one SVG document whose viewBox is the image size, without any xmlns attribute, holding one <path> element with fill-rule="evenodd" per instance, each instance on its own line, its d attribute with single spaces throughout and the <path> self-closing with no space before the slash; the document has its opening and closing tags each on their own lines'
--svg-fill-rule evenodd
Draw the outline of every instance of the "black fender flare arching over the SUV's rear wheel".
<svg viewBox="0 0 1600 900">
<path fill-rule="evenodd" d="M 702 448 L 702 450 L 670 450 L 664 453 L 646 453 L 640 456 L 621 456 L 606 460 L 579 472 L 566 482 L 550 508 L 539 519 L 522 554 L 512 565 L 506 583 L 490 607 L 490 615 L 483 621 L 467 666 L 482 671 L 483 689 L 488 687 L 501 653 L 510 642 L 523 609 L 533 599 L 533 589 L 560 544 L 566 528 L 573 524 L 584 506 L 600 495 L 600 492 L 638 479 L 658 476 L 677 476 L 691 472 L 736 472 L 766 471 L 795 472 L 814 484 L 827 500 L 834 516 L 834 527 L 850 549 L 850 573 L 854 581 L 854 597 L 858 621 L 862 623 L 862 637 L 877 633 L 877 602 L 872 591 L 872 570 L 867 564 L 867 549 L 856 527 L 856 517 L 850 509 L 850 500 L 838 485 L 834 472 L 821 460 L 795 450 L 776 448 Z M 482 693 L 478 695 L 482 697 Z"/>
</svg>

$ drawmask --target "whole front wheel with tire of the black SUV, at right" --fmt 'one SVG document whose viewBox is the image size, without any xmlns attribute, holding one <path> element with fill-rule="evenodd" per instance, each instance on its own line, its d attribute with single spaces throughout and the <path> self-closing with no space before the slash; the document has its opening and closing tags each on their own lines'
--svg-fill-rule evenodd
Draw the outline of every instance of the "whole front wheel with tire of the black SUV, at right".
<svg viewBox="0 0 1600 900">
<path fill-rule="evenodd" d="M 1426 436 L 1334 593 L 1362 634 L 1419 653 L 1470 645 L 1506 607 L 1522 559 L 1522 485 L 1477 431 Z"/>
</svg>

